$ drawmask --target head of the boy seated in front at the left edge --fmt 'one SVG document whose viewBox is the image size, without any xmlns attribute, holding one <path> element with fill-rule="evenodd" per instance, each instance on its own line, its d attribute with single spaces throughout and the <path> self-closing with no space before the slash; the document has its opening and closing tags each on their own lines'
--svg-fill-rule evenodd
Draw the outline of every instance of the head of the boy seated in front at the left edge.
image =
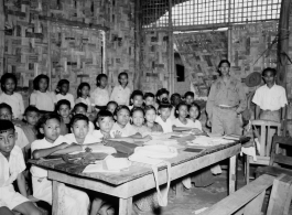
<svg viewBox="0 0 292 215">
<path fill-rule="evenodd" d="M 8 158 L 14 148 L 15 140 L 14 125 L 9 120 L 0 120 L 0 153 Z"/>
</svg>

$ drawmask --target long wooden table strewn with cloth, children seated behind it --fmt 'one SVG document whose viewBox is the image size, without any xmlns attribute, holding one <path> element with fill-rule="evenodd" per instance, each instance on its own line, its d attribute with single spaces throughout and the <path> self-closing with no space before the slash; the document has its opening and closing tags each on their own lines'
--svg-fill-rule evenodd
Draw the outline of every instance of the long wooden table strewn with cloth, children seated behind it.
<svg viewBox="0 0 292 215">
<path fill-rule="evenodd" d="M 236 163 L 240 152 L 239 142 L 207 148 L 199 153 L 181 151 L 176 158 L 165 159 L 172 163 L 171 180 L 183 178 L 221 160 L 229 159 L 229 193 L 236 190 Z M 132 197 L 155 187 L 150 168 L 131 165 L 120 173 L 82 173 L 85 166 L 60 160 L 31 160 L 32 164 L 48 170 L 53 181 L 53 215 L 57 215 L 57 187 L 60 183 L 88 189 L 119 197 L 119 215 L 131 215 Z M 166 168 L 159 169 L 159 184 L 166 183 Z"/>
</svg>

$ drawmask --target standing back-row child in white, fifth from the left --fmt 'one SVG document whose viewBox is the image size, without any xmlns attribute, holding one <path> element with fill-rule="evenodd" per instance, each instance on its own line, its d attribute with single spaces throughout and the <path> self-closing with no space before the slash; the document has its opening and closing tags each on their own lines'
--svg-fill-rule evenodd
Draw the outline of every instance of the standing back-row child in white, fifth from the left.
<svg viewBox="0 0 292 215">
<path fill-rule="evenodd" d="M 109 101 L 108 76 L 99 74 L 96 77 L 97 88 L 90 94 L 91 105 L 99 111 L 107 108 Z"/>
</svg>

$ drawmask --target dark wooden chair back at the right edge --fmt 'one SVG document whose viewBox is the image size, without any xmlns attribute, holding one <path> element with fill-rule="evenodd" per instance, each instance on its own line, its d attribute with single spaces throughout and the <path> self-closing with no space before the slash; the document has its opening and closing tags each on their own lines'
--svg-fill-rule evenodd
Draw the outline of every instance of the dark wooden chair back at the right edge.
<svg viewBox="0 0 292 215">
<path fill-rule="evenodd" d="M 285 164 L 290 165 L 292 169 L 292 157 L 288 157 L 285 155 L 285 153 L 281 153 L 285 152 L 285 150 L 280 150 L 280 146 L 292 147 L 292 138 L 280 136 L 273 137 L 270 165 Z"/>
</svg>

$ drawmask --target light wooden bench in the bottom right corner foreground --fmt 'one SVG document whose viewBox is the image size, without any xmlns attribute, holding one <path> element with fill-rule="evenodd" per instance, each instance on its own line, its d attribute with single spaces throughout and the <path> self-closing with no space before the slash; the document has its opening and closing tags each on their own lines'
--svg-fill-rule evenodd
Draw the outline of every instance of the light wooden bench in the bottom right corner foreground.
<svg viewBox="0 0 292 215">
<path fill-rule="evenodd" d="M 260 215 L 267 190 L 272 186 L 267 215 L 288 215 L 292 198 L 292 178 L 261 175 L 250 184 L 225 197 L 199 215 Z"/>
</svg>

